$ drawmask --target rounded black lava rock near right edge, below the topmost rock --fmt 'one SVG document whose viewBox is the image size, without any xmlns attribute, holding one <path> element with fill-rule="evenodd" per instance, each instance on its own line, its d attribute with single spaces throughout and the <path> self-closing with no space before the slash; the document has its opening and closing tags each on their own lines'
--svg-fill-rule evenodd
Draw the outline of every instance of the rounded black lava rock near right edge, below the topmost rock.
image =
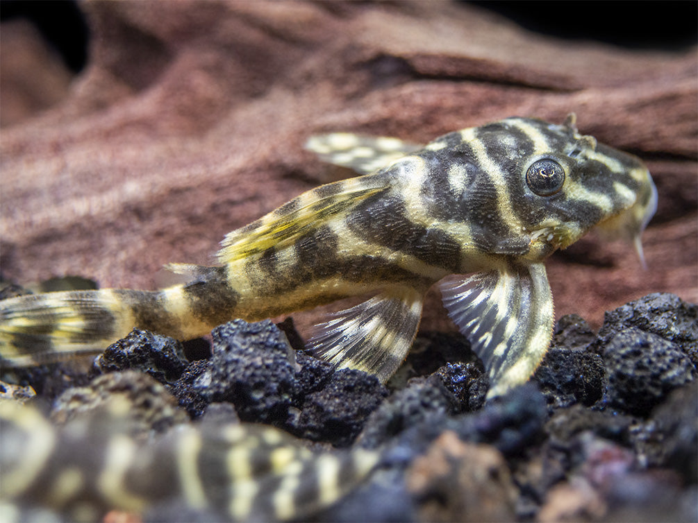
<svg viewBox="0 0 698 523">
<path fill-rule="evenodd" d="M 609 404 L 648 416 L 674 388 L 693 379 L 695 367 L 678 345 L 660 336 L 626 328 L 603 347 Z"/>
</svg>

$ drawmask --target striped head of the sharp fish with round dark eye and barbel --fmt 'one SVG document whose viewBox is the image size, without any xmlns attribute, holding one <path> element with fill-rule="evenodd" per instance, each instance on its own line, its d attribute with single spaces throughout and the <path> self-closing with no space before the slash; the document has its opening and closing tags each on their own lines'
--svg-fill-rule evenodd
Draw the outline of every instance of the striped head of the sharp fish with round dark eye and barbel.
<svg viewBox="0 0 698 523">
<path fill-rule="evenodd" d="M 657 209 L 657 189 L 644 162 L 580 135 L 574 115 L 561 125 L 505 122 L 527 144 L 505 173 L 513 212 L 530 238 L 526 257 L 540 260 L 599 229 L 606 237 L 634 241 L 644 265 L 640 236 Z"/>
</svg>

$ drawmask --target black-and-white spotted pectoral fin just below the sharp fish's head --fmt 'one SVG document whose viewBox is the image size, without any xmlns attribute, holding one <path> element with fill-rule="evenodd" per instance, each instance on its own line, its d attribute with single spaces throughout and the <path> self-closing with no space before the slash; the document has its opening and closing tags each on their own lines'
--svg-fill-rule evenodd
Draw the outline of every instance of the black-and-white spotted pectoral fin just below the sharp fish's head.
<svg viewBox="0 0 698 523">
<path fill-rule="evenodd" d="M 527 381 L 553 330 L 553 298 L 543 264 L 443 280 L 440 290 L 451 319 L 487 368 L 487 396 Z"/>
</svg>

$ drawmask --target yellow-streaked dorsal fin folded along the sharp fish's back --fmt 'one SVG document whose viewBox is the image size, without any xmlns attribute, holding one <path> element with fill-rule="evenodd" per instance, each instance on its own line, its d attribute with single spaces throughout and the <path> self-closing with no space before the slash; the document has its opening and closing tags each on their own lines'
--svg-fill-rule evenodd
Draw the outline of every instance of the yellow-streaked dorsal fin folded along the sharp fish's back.
<svg viewBox="0 0 698 523">
<path fill-rule="evenodd" d="M 368 181 L 365 177 L 364 181 Z M 328 218 L 338 215 L 369 196 L 387 189 L 385 182 L 353 183 L 339 181 L 304 192 L 283 207 L 272 211 L 246 227 L 228 233 L 216 257 L 221 264 L 261 254 L 270 247 L 283 248 L 295 238 L 322 226 Z M 338 190 L 328 190 L 336 185 Z M 323 190 L 325 189 L 325 190 Z M 327 195 L 327 196 L 323 196 Z M 291 209 L 290 211 L 288 209 Z"/>
</svg>

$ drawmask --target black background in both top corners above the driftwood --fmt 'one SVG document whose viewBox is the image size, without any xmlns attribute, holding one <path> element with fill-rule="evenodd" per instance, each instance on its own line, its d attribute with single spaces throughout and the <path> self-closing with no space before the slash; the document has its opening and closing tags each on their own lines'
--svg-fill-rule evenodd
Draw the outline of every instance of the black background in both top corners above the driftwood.
<svg viewBox="0 0 698 523">
<path fill-rule="evenodd" d="M 474 1 L 521 26 L 559 38 L 623 47 L 680 49 L 698 40 L 695 1 Z M 88 60 L 89 28 L 75 1 L 2 0 L 0 20 L 26 17 L 74 73 Z"/>
</svg>

